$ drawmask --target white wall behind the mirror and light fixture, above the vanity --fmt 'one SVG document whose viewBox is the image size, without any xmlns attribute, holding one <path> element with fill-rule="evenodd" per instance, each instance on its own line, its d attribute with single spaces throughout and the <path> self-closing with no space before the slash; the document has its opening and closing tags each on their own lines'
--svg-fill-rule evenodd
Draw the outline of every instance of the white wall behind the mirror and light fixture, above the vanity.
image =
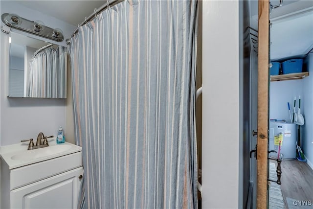
<svg viewBox="0 0 313 209">
<path fill-rule="evenodd" d="M 41 20 L 52 28 L 61 28 L 65 38 L 69 37 L 76 28 L 14 1 L 1 0 L 0 11 L 1 14 L 15 13 L 29 20 Z M 1 25 L 3 25 L 2 22 Z M 27 36 L 31 35 L 27 34 Z M 60 125 L 64 127 L 66 133 L 65 99 L 6 97 L 8 40 L 9 35 L 0 32 L 0 145 L 19 143 L 21 139 L 36 138 L 41 131 L 45 135 L 56 135 Z M 45 39 L 42 40 L 45 41 Z M 67 46 L 65 41 L 62 45 Z"/>
</svg>

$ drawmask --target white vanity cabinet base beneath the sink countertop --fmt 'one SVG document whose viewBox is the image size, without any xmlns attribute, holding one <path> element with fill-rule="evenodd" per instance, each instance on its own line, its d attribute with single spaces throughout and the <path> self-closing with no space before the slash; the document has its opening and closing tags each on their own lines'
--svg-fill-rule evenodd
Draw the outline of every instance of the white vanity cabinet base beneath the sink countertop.
<svg viewBox="0 0 313 209">
<path fill-rule="evenodd" d="M 23 166 L 12 166 L 7 163 L 8 155 L 1 153 L 0 208 L 77 208 L 82 186 L 83 161 L 81 149 L 74 149 L 74 151 L 74 153 L 63 156 L 61 154 L 59 157 Z"/>
</svg>

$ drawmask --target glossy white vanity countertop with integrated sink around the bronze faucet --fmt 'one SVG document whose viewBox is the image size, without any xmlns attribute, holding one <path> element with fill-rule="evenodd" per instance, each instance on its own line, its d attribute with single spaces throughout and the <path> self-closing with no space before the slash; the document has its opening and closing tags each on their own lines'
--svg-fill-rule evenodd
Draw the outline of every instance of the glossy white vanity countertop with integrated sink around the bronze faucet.
<svg viewBox="0 0 313 209">
<path fill-rule="evenodd" d="M 55 138 L 49 139 L 48 143 L 49 146 L 34 150 L 27 150 L 27 142 L 1 146 L 0 155 L 13 169 L 82 151 L 82 147 L 68 142 L 57 144 Z"/>
</svg>

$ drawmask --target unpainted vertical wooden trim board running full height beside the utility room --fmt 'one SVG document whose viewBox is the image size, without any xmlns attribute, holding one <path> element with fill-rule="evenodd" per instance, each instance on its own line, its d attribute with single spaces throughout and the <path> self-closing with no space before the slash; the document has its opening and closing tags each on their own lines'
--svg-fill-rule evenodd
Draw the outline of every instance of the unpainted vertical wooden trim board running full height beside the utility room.
<svg viewBox="0 0 313 209">
<path fill-rule="evenodd" d="M 269 1 L 259 0 L 257 209 L 268 201 Z"/>
</svg>

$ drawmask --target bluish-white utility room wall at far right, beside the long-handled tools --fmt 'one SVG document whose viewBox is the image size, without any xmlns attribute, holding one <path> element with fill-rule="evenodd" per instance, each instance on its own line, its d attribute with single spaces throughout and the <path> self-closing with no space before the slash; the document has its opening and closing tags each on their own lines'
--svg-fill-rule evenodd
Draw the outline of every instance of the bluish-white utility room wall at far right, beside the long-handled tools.
<svg viewBox="0 0 313 209">
<path fill-rule="evenodd" d="M 313 169 L 313 53 L 306 59 L 309 77 L 303 79 L 304 102 L 303 115 L 305 124 L 302 126 L 302 148 L 308 164 Z M 302 99 L 301 99 L 302 100 Z M 302 105 L 301 105 L 302 106 Z"/>
</svg>

